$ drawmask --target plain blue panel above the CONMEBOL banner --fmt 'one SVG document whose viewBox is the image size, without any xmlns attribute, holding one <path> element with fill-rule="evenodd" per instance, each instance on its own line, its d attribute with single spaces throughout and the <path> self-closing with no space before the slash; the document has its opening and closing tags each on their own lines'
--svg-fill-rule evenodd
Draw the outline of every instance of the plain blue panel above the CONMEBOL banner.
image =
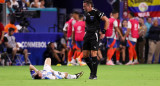
<svg viewBox="0 0 160 86">
<path fill-rule="evenodd" d="M 36 32 L 48 32 L 49 27 L 58 25 L 57 8 L 29 8 L 29 10 L 40 10 L 40 18 L 28 18 L 30 26 L 35 28 Z M 30 27 L 28 28 L 32 31 Z M 55 27 L 55 32 L 57 32 L 57 27 Z"/>
</svg>

